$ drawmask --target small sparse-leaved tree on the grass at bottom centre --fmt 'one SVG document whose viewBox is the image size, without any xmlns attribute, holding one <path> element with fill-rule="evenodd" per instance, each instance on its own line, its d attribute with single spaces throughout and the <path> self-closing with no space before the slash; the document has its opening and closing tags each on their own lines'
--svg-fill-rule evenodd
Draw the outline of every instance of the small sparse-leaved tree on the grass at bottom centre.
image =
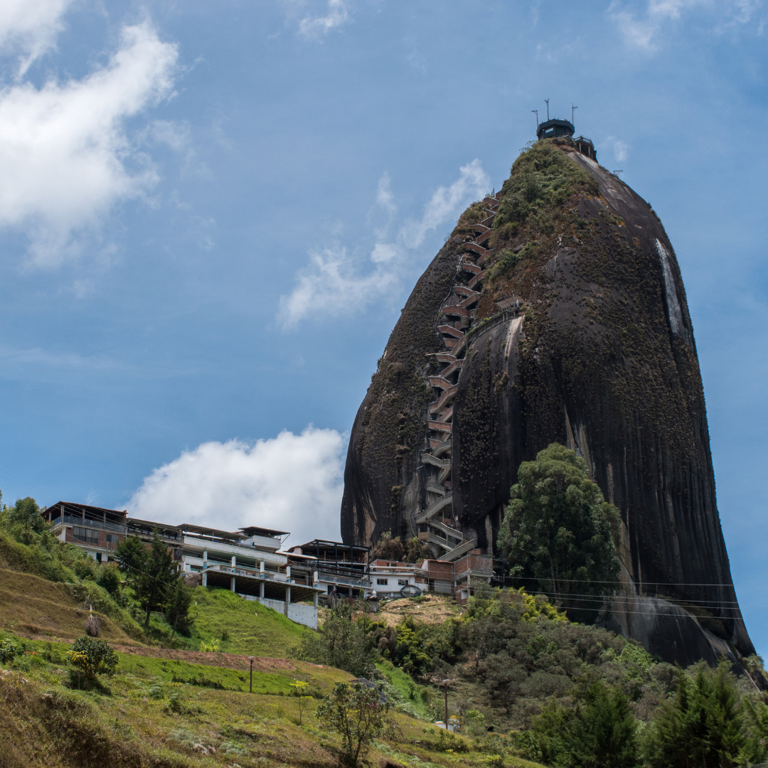
<svg viewBox="0 0 768 768">
<path fill-rule="evenodd" d="M 384 733 L 389 703 L 376 688 L 359 683 L 336 683 L 333 693 L 315 712 L 329 730 L 341 735 L 343 756 L 357 766 L 373 740 Z"/>
</svg>

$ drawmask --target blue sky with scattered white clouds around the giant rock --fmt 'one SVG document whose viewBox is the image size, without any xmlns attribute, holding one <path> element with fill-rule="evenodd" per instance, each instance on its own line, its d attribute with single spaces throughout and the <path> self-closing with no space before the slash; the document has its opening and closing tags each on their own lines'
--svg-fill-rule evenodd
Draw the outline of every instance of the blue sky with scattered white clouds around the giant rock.
<svg viewBox="0 0 768 768">
<path fill-rule="evenodd" d="M 768 652 L 768 7 L 6 0 L 0 488 L 338 535 L 346 436 L 458 213 L 568 117 L 653 205 Z"/>
</svg>

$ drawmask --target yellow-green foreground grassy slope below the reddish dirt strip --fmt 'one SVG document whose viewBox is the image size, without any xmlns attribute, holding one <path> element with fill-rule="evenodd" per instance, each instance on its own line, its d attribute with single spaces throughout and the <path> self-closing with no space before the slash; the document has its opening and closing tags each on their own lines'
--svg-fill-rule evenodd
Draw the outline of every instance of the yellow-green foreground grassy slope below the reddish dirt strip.
<svg viewBox="0 0 768 768">
<path fill-rule="evenodd" d="M 326 694 L 349 679 L 344 672 L 295 662 L 291 669 L 255 672 L 248 694 L 244 671 L 120 654 L 118 674 L 86 691 L 65 668 L 65 650 L 65 644 L 28 642 L 12 669 L 0 672 L 4 768 L 338 765 L 339 741 L 313 716 L 317 702 L 299 726 L 298 701 L 289 694 L 293 680 Z M 396 737 L 376 744 L 372 764 L 451 768 L 460 755 L 468 768 L 488 766 L 488 753 L 469 750 L 464 737 L 441 740 L 419 720 L 393 717 Z M 201 756 L 195 744 L 216 751 Z M 535 768 L 515 758 L 505 764 Z"/>
</svg>

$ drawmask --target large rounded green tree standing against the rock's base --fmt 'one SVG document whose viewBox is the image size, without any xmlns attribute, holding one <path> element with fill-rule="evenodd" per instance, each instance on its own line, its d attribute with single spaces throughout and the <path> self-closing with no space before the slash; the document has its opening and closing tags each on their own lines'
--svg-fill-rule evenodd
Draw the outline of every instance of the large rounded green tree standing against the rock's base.
<svg viewBox="0 0 768 768">
<path fill-rule="evenodd" d="M 553 594 L 569 617 L 591 623 L 619 578 L 619 525 L 584 460 L 552 443 L 520 465 L 498 546 L 520 586 Z"/>
</svg>

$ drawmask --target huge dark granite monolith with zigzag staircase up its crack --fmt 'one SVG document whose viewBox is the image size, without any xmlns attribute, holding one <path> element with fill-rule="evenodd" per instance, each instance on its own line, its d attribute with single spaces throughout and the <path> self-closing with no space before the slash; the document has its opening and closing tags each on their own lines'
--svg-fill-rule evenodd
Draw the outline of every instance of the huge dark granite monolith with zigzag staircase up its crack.
<svg viewBox="0 0 768 768">
<path fill-rule="evenodd" d="M 568 138 L 521 155 L 416 283 L 353 426 L 344 541 L 493 551 L 518 465 L 551 442 L 621 511 L 609 627 L 681 664 L 753 653 L 674 250 Z"/>
</svg>

